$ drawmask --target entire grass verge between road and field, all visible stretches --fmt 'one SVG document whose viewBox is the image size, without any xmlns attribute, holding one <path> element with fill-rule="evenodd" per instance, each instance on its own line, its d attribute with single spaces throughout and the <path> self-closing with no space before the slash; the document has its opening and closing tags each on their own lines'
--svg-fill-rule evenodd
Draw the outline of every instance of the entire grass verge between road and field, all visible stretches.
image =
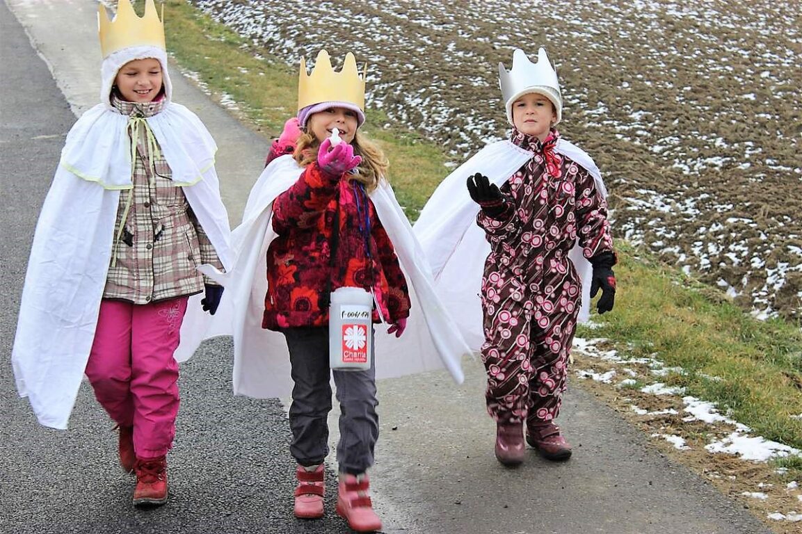
<svg viewBox="0 0 802 534">
<path fill-rule="evenodd" d="M 138 2 L 142 3 L 142 2 Z M 237 102 L 241 119 L 275 137 L 295 111 L 298 71 L 213 22 L 184 0 L 164 2 L 168 48 L 217 97 Z M 412 220 L 448 174 L 444 151 L 368 110 L 364 127 L 391 160 L 390 180 Z M 715 289 L 699 285 L 648 253 L 618 242 L 614 313 L 580 335 L 605 337 L 622 354 L 650 356 L 685 373 L 671 385 L 715 403 L 756 435 L 802 448 L 802 333 L 778 320 L 758 322 Z M 802 459 L 780 463 L 802 476 Z"/>
</svg>

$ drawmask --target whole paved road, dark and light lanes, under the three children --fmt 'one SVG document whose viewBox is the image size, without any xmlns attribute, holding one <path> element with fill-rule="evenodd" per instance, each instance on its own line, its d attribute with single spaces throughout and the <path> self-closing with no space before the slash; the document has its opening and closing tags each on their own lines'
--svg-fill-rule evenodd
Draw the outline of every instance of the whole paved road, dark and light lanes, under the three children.
<svg viewBox="0 0 802 534">
<path fill-rule="evenodd" d="M 0 532 L 349 532 L 334 514 L 302 523 L 291 516 L 284 407 L 232 397 L 228 339 L 206 343 L 182 367 L 172 500 L 153 511 L 130 506 L 132 479 L 116 466 L 115 434 L 91 388 L 82 387 L 66 432 L 39 427 L 15 394 L 10 348 L 38 209 L 73 111 L 97 101 L 95 5 L 0 2 Z M 176 101 L 201 115 L 221 147 L 218 172 L 236 221 L 267 143 L 175 69 L 172 77 Z M 465 366 L 460 387 L 442 373 L 379 384 L 372 478 L 384 532 L 768 533 L 578 389 L 569 390 L 561 418 L 574 458 L 553 464 L 533 455 L 518 469 L 501 467 L 484 374 L 476 362 Z M 329 475 L 334 465 L 332 457 Z M 329 510 L 333 496 L 330 483 Z"/>
</svg>

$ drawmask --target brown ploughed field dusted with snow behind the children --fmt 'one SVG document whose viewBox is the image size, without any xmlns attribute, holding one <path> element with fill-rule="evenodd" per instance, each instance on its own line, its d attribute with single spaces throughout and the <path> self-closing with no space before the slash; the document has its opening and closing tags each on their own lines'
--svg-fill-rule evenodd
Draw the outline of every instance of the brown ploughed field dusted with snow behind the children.
<svg viewBox="0 0 802 534">
<path fill-rule="evenodd" d="M 454 163 L 505 136 L 498 63 L 546 47 L 617 236 L 759 318 L 802 318 L 798 0 L 192 3 L 293 67 L 353 51 L 368 120 L 381 108 Z"/>
</svg>

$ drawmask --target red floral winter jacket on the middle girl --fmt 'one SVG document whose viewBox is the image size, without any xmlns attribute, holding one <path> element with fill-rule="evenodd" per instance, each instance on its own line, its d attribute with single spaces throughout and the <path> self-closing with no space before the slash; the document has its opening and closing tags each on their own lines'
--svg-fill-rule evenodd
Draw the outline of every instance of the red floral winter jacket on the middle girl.
<svg viewBox="0 0 802 534">
<path fill-rule="evenodd" d="M 329 292 L 341 286 L 372 288 L 385 322 L 409 316 L 407 281 L 362 184 L 310 164 L 273 201 L 272 224 L 278 237 L 267 251 L 263 328 L 326 326 Z M 380 320 L 376 309 L 373 320 Z"/>
</svg>

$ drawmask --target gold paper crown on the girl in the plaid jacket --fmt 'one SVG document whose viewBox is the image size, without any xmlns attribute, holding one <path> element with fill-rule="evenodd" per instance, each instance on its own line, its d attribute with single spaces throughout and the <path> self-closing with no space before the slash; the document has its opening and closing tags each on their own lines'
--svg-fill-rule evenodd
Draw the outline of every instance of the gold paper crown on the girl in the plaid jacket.
<svg viewBox="0 0 802 534">
<path fill-rule="evenodd" d="M 145 13 L 141 18 L 131 0 L 119 0 L 113 20 L 108 18 L 106 7 L 98 4 L 98 30 L 103 58 L 128 47 L 152 46 L 167 50 L 164 47 L 164 6 L 159 17 L 153 0 L 145 0 Z"/>
</svg>

